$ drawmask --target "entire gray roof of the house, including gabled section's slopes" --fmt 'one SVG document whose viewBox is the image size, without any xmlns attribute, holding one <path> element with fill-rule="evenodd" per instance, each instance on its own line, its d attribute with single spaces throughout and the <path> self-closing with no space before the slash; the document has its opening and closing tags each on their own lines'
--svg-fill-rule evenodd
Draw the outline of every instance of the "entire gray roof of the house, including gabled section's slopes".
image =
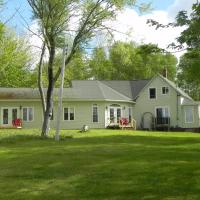
<svg viewBox="0 0 200 200">
<path fill-rule="evenodd" d="M 163 78 L 180 95 L 192 100 L 185 92 L 176 85 Z M 150 79 L 151 80 L 151 79 Z M 97 80 L 75 80 L 72 81 L 71 88 L 64 88 L 63 98 L 74 101 L 124 101 L 133 102 L 141 90 L 150 83 L 150 80 L 133 81 L 97 81 Z M 45 89 L 46 92 L 46 89 Z M 58 89 L 54 95 L 57 96 Z M 0 88 L 0 100 L 3 99 L 40 99 L 38 89 L 32 88 Z"/>
</svg>

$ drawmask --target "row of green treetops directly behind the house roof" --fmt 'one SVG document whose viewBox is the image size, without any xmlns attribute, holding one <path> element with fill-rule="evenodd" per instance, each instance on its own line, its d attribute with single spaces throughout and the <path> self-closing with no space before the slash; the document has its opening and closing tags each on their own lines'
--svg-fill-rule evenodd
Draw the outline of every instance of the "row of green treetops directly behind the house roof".
<svg viewBox="0 0 200 200">
<path fill-rule="evenodd" d="M 107 80 L 133 80 L 151 78 L 168 69 L 168 78 L 176 74 L 176 58 L 164 54 L 156 45 L 116 42 L 108 49 L 95 49 L 89 63 L 92 77 Z"/>
</svg>

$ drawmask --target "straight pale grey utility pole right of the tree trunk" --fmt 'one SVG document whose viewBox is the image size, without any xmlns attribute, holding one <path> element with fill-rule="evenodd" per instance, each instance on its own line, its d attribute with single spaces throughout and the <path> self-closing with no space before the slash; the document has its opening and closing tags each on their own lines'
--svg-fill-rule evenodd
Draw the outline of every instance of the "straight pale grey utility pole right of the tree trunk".
<svg viewBox="0 0 200 200">
<path fill-rule="evenodd" d="M 61 113 L 62 113 L 62 94 L 63 94 L 63 86 L 64 86 L 64 78 L 65 78 L 65 57 L 66 57 L 66 47 L 63 48 L 63 61 L 61 66 L 61 83 L 59 89 L 58 96 L 58 111 L 57 111 L 57 122 L 56 122 L 56 135 L 55 140 L 60 140 L 60 121 L 61 121 Z"/>
</svg>

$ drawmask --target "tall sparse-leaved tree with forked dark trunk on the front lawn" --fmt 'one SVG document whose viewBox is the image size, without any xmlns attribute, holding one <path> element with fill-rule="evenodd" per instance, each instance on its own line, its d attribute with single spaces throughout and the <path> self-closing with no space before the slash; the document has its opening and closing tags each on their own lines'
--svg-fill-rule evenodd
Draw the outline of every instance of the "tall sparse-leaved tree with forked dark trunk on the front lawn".
<svg viewBox="0 0 200 200">
<path fill-rule="evenodd" d="M 61 72 L 61 67 L 56 73 L 53 71 L 59 38 L 64 34 L 71 36 L 72 45 L 67 45 L 71 47 L 65 61 L 67 66 L 80 46 L 87 44 L 97 32 L 108 29 L 104 23 L 106 20 L 114 19 L 117 11 L 125 5 L 134 5 L 135 0 L 28 0 L 28 3 L 40 24 L 49 52 L 46 111 L 42 127 L 42 136 L 46 137 L 53 108 L 54 86 Z"/>
</svg>

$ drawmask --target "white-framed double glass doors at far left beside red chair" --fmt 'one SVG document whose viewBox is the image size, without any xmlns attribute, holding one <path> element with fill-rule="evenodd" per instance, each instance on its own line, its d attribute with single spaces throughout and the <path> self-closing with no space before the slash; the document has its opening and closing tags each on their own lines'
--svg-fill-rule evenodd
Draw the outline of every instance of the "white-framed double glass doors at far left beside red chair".
<svg viewBox="0 0 200 200">
<path fill-rule="evenodd" d="M 12 126 L 13 120 L 19 118 L 18 108 L 2 108 L 1 121 L 3 126 Z"/>
</svg>

